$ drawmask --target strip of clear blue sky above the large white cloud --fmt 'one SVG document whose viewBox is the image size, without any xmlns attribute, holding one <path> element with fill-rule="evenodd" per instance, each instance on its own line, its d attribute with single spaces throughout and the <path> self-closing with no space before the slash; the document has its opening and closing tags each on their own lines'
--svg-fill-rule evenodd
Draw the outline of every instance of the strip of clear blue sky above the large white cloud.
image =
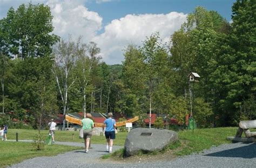
<svg viewBox="0 0 256 168">
<path fill-rule="evenodd" d="M 169 13 L 171 11 L 191 13 L 196 6 L 218 11 L 228 21 L 231 20 L 231 6 L 235 0 L 116 0 L 105 3 L 87 1 L 85 5 L 103 16 L 104 24 L 127 14 Z"/>
</svg>

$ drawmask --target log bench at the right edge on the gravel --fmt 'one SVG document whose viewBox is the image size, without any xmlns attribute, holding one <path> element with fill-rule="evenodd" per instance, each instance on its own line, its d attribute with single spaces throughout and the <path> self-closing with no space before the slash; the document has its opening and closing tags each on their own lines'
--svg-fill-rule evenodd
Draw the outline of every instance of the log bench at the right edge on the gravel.
<svg viewBox="0 0 256 168">
<path fill-rule="evenodd" d="M 250 128 L 256 128 L 256 120 L 240 121 L 235 137 L 227 137 L 227 140 L 233 142 L 256 142 L 256 132 L 251 132 Z M 242 132 L 244 132 L 246 138 L 241 137 Z"/>
</svg>

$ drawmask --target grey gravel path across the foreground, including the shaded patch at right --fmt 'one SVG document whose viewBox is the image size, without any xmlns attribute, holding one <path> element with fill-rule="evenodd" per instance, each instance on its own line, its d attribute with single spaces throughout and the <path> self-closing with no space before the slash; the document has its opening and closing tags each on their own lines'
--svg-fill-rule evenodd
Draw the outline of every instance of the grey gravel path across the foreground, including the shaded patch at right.
<svg viewBox="0 0 256 168">
<path fill-rule="evenodd" d="M 82 143 L 57 142 L 56 144 L 83 146 Z M 233 143 L 212 147 L 196 155 L 178 157 L 174 160 L 125 163 L 112 162 L 99 157 L 105 155 L 105 145 L 92 144 L 89 153 L 84 150 L 66 152 L 53 157 L 36 157 L 11 167 L 255 167 L 256 143 Z M 114 146 L 113 150 L 122 148 Z"/>
</svg>

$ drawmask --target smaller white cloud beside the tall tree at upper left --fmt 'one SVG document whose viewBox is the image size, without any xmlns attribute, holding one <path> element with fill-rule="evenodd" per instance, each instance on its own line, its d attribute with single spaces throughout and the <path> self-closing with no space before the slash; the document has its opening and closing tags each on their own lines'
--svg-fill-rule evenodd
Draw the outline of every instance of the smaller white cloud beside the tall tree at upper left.
<svg viewBox="0 0 256 168">
<path fill-rule="evenodd" d="M 102 28 L 102 17 L 97 12 L 89 11 L 83 4 L 85 1 L 49 0 L 53 15 L 53 33 L 60 37 L 71 34 L 74 38 L 83 36 L 85 41 L 90 41 Z"/>
</svg>

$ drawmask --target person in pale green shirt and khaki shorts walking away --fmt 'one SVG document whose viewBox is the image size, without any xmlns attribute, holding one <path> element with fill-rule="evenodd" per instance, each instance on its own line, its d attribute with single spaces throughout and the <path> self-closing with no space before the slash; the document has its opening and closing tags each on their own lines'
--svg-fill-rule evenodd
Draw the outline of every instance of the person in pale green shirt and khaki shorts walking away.
<svg viewBox="0 0 256 168">
<path fill-rule="evenodd" d="M 85 153 L 89 153 L 90 139 L 92 137 L 92 128 L 94 127 L 94 122 L 92 121 L 92 115 L 86 113 L 86 118 L 82 120 L 83 133 L 84 133 L 84 146 Z"/>
</svg>

